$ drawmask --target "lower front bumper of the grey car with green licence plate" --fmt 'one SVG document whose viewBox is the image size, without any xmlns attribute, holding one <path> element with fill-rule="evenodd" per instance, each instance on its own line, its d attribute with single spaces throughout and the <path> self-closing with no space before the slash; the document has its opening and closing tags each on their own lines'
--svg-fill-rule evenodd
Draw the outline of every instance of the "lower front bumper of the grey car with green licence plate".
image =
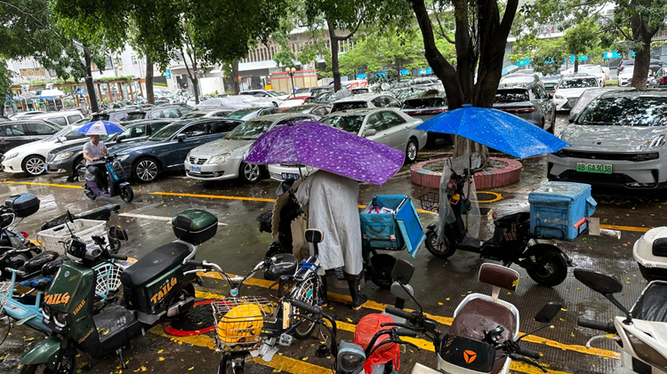
<svg viewBox="0 0 667 374">
<path fill-rule="evenodd" d="M 612 165 L 611 174 L 576 171 L 577 163 Z M 628 189 L 655 189 L 667 187 L 667 167 L 663 159 L 650 161 L 582 159 L 578 157 L 547 156 L 547 178 L 549 180 L 588 183 L 591 186 L 624 187 Z"/>
</svg>

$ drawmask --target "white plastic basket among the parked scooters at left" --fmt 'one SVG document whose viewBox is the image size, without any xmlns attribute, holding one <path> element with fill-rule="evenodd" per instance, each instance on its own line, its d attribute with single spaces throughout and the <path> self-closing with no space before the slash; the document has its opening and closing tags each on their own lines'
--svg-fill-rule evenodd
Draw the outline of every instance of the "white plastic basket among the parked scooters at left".
<svg viewBox="0 0 667 374">
<path fill-rule="evenodd" d="M 92 235 L 104 236 L 106 234 L 106 224 L 107 221 L 76 219 L 74 222 L 40 231 L 37 233 L 37 242 L 44 251 L 56 251 L 65 254 L 65 245 L 60 242 L 67 241 L 71 237 L 69 230 L 72 230 L 74 235 L 84 241 L 90 251 L 95 246 L 95 243 L 92 242 Z"/>
</svg>

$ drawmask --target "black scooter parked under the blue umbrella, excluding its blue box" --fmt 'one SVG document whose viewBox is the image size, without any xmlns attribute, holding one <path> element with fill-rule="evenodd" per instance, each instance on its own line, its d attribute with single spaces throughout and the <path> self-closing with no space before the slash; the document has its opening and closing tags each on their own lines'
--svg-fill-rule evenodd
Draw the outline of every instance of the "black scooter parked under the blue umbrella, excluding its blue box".
<svg viewBox="0 0 667 374">
<path fill-rule="evenodd" d="M 530 211 L 518 211 L 502 217 L 494 213 L 494 236 L 489 241 L 466 237 L 467 229 L 462 216 L 470 211 L 471 204 L 465 195 L 464 186 L 469 173 L 472 178 L 478 171 L 481 169 L 465 169 L 459 175 L 452 170 L 447 201 L 444 203 L 450 204 L 456 220 L 444 227 L 444 237 L 438 236 L 437 225 L 427 227 L 426 248 L 441 259 L 447 259 L 460 250 L 479 253 L 484 259 L 502 261 L 506 267 L 516 263 L 525 268 L 535 282 L 546 287 L 565 281 L 567 267 L 572 266 L 572 260 L 559 247 L 537 242 L 537 239 L 553 238 L 530 233 Z M 422 208 L 430 211 L 438 211 L 438 200 L 438 195 L 432 192 L 420 197 Z"/>
</svg>

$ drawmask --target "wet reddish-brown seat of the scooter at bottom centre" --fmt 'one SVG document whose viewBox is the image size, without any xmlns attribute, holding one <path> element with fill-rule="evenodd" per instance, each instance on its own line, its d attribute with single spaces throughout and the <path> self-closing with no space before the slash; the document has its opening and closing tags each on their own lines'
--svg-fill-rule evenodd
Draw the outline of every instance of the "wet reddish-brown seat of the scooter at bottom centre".
<svg viewBox="0 0 667 374">
<path fill-rule="evenodd" d="M 449 333 L 459 337 L 484 341 L 487 331 L 502 326 L 498 343 L 512 338 L 516 328 L 514 314 L 505 306 L 484 298 L 473 298 L 456 314 Z"/>
</svg>

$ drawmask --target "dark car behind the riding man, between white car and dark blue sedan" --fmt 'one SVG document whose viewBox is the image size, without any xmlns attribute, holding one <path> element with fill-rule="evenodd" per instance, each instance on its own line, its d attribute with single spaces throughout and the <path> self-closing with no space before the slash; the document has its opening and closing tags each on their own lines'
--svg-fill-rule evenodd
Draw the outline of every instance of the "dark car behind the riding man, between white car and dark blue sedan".
<svg viewBox="0 0 667 374">
<path fill-rule="evenodd" d="M 123 123 L 125 131 L 110 135 L 108 139 L 104 140 L 104 145 L 110 152 L 118 145 L 148 139 L 149 136 L 173 121 L 173 119 L 153 119 L 125 122 Z M 49 174 L 65 173 L 76 176 L 76 168 L 81 164 L 85 164 L 84 147 L 81 144 L 68 145 L 54 148 L 46 155 L 44 170 Z"/>
</svg>

